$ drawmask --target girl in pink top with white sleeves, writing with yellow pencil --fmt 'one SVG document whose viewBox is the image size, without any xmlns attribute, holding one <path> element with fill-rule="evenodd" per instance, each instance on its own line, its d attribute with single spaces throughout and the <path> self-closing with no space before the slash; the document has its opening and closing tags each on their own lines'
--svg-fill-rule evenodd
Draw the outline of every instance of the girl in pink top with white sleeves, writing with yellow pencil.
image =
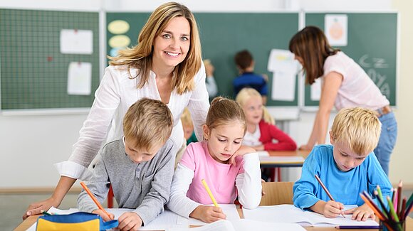
<svg viewBox="0 0 413 231">
<path fill-rule="evenodd" d="M 203 130 L 205 140 L 189 144 L 178 163 L 167 207 L 204 222 L 225 219 L 221 208 L 209 206 L 205 179 L 217 203 L 234 203 L 238 195 L 244 208 L 256 208 L 261 201 L 261 171 L 256 151 L 241 146 L 246 122 L 240 105 L 216 97 Z"/>
</svg>

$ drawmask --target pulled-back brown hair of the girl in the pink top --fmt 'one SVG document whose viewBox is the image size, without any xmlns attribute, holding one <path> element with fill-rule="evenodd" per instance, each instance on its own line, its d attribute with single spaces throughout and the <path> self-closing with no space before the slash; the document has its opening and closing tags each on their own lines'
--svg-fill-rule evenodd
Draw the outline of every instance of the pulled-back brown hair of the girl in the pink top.
<svg viewBox="0 0 413 231">
<path fill-rule="evenodd" d="M 234 100 L 229 100 L 224 97 L 216 97 L 211 102 L 211 107 L 209 107 L 205 124 L 209 130 L 211 130 L 236 120 L 243 124 L 245 134 L 246 121 L 241 105 Z"/>
</svg>

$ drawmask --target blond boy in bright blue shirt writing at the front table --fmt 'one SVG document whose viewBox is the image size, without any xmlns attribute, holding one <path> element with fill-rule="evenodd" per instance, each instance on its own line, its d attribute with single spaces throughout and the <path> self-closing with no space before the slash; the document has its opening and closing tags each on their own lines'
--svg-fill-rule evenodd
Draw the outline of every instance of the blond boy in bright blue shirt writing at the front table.
<svg viewBox="0 0 413 231">
<path fill-rule="evenodd" d="M 383 197 L 391 195 L 392 185 L 372 152 L 379 141 L 380 130 L 381 123 L 372 110 L 341 109 L 330 130 L 332 145 L 315 146 L 305 159 L 301 178 L 293 187 L 294 205 L 325 217 L 343 214 L 344 205 L 358 205 L 344 213 L 352 214 L 352 220 L 375 219 L 360 193 L 366 190 L 374 198 L 378 185 Z M 329 199 L 315 175 L 336 201 Z"/>
</svg>

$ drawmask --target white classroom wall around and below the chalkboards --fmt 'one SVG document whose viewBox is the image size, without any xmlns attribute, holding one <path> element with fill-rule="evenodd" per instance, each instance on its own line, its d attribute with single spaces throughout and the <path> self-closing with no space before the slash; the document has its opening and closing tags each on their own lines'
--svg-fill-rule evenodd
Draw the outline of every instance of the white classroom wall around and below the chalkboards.
<svg viewBox="0 0 413 231">
<path fill-rule="evenodd" d="M 54 9 L 54 10 L 88 10 L 98 11 L 152 11 L 164 1 L 132 1 L 132 0 L 0 0 L 0 7 L 21 9 Z M 412 60 L 412 47 L 407 41 L 413 41 L 412 28 L 407 19 L 412 21 L 413 6 L 411 1 L 395 0 L 313 0 L 313 1 L 276 1 L 276 0 L 210 0 L 180 1 L 192 11 L 280 11 L 286 8 L 335 10 L 335 11 L 370 11 L 399 9 L 402 12 L 402 44 L 399 80 L 399 108 L 396 116 L 399 122 L 399 139 L 392 156 L 390 177 L 392 182 L 399 178 L 413 183 L 413 173 L 404 171 L 413 163 L 413 155 L 409 155 L 409 134 L 413 131 L 410 117 L 412 104 L 409 99 L 412 93 L 413 79 L 409 77 L 409 63 Z M 394 7 L 394 8 L 392 8 Z M 86 114 L 71 115 L 38 115 L 38 116 L 4 116 L 0 115 L 0 189 L 53 187 L 58 181 L 58 174 L 53 163 L 68 159 L 73 143 L 78 138 L 78 131 Z M 313 113 L 302 113 L 300 120 L 291 122 L 291 135 L 303 144 L 308 139 L 313 126 Z M 403 136 L 403 137 L 402 137 Z M 403 167 L 403 168 L 400 168 Z M 404 174 L 404 175 L 402 175 Z"/>
</svg>

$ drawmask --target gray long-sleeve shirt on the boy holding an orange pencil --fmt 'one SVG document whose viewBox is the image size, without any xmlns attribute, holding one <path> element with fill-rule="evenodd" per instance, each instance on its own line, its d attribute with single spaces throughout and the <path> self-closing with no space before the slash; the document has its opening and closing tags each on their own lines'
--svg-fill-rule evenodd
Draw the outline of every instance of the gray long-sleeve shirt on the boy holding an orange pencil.
<svg viewBox="0 0 413 231">
<path fill-rule="evenodd" d="M 133 163 L 125 153 L 123 140 L 111 141 L 103 147 L 87 186 L 103 203 L 112 184 L 119 208 L 134 208 L 145 225 L 163 212 L 169 199 L 174 175 L 173 147 L 173 141 L 168 139 L 152 160 Z M 78 209 L 89 213 L 98 209 L 85 190 L 78 197 Z"/>
</svg>

